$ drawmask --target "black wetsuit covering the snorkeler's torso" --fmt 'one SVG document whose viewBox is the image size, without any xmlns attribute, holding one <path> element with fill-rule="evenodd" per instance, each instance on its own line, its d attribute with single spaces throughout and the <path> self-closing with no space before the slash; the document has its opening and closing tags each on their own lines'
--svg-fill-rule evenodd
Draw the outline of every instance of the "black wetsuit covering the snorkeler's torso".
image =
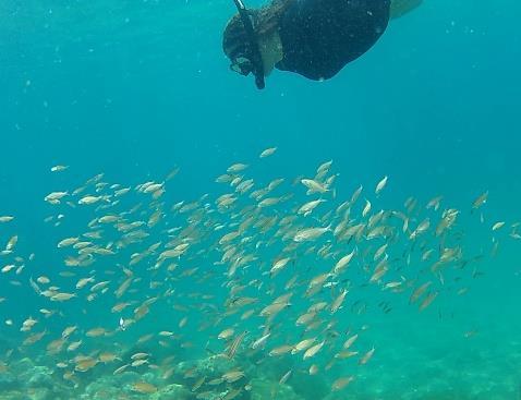
<svg viewBox="0 0 521 400">
<path fill-rule="evenodd" d="M 311 80 L 335 76 L 384 34 L 390 0 L 294 0 L 279 25 L 276 68 Z"/>
</svg>

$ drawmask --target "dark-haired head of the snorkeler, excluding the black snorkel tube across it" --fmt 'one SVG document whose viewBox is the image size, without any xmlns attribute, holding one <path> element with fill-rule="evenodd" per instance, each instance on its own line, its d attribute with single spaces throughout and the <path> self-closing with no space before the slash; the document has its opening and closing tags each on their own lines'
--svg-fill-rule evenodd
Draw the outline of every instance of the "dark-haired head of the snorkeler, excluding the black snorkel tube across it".
<svg viewBox="0 0 521 400">
<path fill-rule="evenodd" d="M 277 32 L 282 12 L 292 0 L 275 0 L 259 10 L 249 10 L 249 16 L 255 34 L 256 46 L 269 39 Z M 231 60 L 231 69 L 243 75 L 255 73 L 255 49 L 244 27 L 241 15 L 235 14 L 227 24 L 222 35 L 222 49 Z"/>
</svg>

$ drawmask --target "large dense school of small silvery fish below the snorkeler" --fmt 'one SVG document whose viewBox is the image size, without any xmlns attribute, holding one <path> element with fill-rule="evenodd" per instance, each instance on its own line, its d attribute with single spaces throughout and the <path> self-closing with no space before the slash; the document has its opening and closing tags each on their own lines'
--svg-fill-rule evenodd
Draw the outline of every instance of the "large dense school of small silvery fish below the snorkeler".
<svg viewBox="0 0 521 400">
<path fill-rule="evenodd" d="M 276 153 L 262 151 L 257 162 Z M 250 169 L 231 165 L 216 178 L 219 194 L 195 201 L 172 199 L 182 194 L 179 168 L 158 182 L 122 185 L 100 173 L 59 187 L 44 196 L 45 222 L 60 233 L 49 252 L 61 262 L 51 267 L 39 266 L 37 253 L 21 255 L 19 239 L 31 232 L 3 238 L 16 216 L 0 216 L 1 286 L 28 288 L 38 304 L 17 315 L 19 300 L 0 298 L 1 332 L 16 340 L 1 365 L 33 354 L 75 390 L 96 371 L 149 371 L 156 379 L 136 380 L 134 393 L 175 381 L 196 399 L 231 400 L 249 398 L 251 365 L 283 359 L 291 367 L 280 385 L 327 373 L 330 391 L 342 392 L 378 362 L 367 307 L 386 315 L 398 298 L 424 312 L 463 295 L 497 252 L 494 234 L 509 227 L 521 239 L 519 223 L 497 221 L 484 229 L 483 246 L 465 247 L 458 219 L 465 213 L 484 222 L 488 192 L 463 210 L 441 196 L 384 209 L 388 177 L 340 198 L 332 161 L 267 182 Z M 367 293 L 387 300 L 372 304 Z M 194 367 L 203 357 L 222 360 L 227 371 Z"/>
</svg>

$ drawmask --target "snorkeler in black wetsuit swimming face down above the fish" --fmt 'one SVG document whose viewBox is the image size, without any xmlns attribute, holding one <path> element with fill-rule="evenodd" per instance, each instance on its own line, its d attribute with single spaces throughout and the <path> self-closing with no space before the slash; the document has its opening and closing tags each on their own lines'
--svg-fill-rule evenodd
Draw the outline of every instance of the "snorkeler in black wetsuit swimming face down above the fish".
<svg viewBox="0 0 521 400">
<path fill-rule="evenodd" d="M 253 73 L 259 89 L 274 69 L 310 80 L 335 76 L 369 50 L 392 17 L 413 10 L 422 0 L 272 0 L 239 13 L 227 24 L 222 49 L 230 68 Z"/>
</svg>

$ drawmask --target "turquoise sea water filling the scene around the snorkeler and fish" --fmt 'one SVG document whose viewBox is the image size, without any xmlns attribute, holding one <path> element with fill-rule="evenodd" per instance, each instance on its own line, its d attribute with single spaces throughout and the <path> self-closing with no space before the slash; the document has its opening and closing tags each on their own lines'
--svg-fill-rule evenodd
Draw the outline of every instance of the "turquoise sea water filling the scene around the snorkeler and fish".
<svg viewBox="0 0 521 400">
<path fill-rule="evenodd" d="M 222 54 L 221 31 L 233 11 L 228 1 L 0 4 L 0 217 L 14 217 L 0 223 L 0 247 L 17 235 L 0 256 L 0 267 L 15 266 L 0 274 L 1 398 L 518 399 L 519 3 L 426 1 L 393 21 L 368 53 L 334 80 L 315 83 L 274 72 L 264 92 L 231 73 Z M 274 146 L 272 156 L 259 159 Z M 324 194 L 306 195 L 299 180 L 314 178 L 329 160 L 327 177 L 338 174 L 335 182 Z M 233 178 L 254 180 L 244 194 L 239 182 L 215 182 L 235 162 L 249 167 Z M 51 172 L 57 165 L 69 168 Z M 175 166 L 179 173 L 166 180 Z M 86 184 L 98 173 L 104 173 L 99 181 Z M 387 186 L 376 195 L 386 175 Z M 250 197 L 279 178 L 284 182 L 269 194 Z M 152 181 L 165 182 L 157 199 L 137 186 Z M 340 240 L 331 231 L 304 243 L 292 239 L 304 227 L 337 228 L 346 219 L 337 207 L 360 185 L 363 192 L 346 222 L 365 225 L 358 239 Z M 84 192 L 73 194 L 82 186 Z M 131 191 L 117 196 L 122 187 Z M 60 204 L 44 201 L 61 191 L 68 194 Z M 488 201 L 473 210 L 485 192 Z M 223 194 L 237 201 L 218 207 Z M 78 204 L 85 195 L 105 197 Z M 439 209 L 426 209 L 438 195 L 444 196 Z M 417 206 L 407 210 L 411 196 Z M 258 207 L 266 197 L 279 203 Z M 317 198 L 325 202 L 310 216 L 298 214 Z M 366 199 L 372 209 L 362 216 Z M 174 206 L 179 202 L 184 203 Z M 437 237 L 441 214 L 450 208 L 459 210 L 457 222 Z M 386 217 L 376 225 L 391 233 L 368 239 L 366 225 L 380 210 Z M 396 211 L 409 217 L 404 232 Z M 117 219 L 100 222 L 104 216 Z M 291 216 L 295 219 L 284 223 Z M 426 232 L 411 239 L 425 218 Z M 219 244 L 249 219 L 252 226 Z M 129 243 L 118 227 L 136 221 L 144 225 L 130 231 L 146 237 Z M 82 237 L 93 231 L 102 232 Z M 58 249 L 66 238 L 110 254 L 68 266 L 81 249 Z M 374 253 L 385 243 L 388 271 L 371 281 L 381 259 Z M 161 259 L 179 244 L 187 244 L 186 251 Z M 241 256 L 221 262 L 229 246 Z M 422 260 L 429 249 L 432 258 Z M 462 255 L 433 274 L 444 249 L 461 249 Z M 311 279 L 353 250 L 346 271 L 304 295 Z M 131 265 L 132 255 L 143 253 L 143 260 Z M 283 257 L 288 265 L 270 275 Z M 244 258 L 247 263 L 231 272 L 233 260 Z M 294 287 L 287 289 L 294 276 Z M 118 298 L 129 277 L 130 288 Z M 411 305 L 412 292 L 429 281 Z M 390 282 L 400 286 L 393 291 L 386 288 Z M 75 296 L 57 302 L 37 293 L 52 286 L 51 296 Z M 349 292 L 342 306 L 331 314 L 343 289 Z M 289 304 L 272 320 L 259 315 L 288 293 L 293 293 Z M 438 295 L 420 312 L 428 293 Z M 230 301 L 240 295 L 255 301 L 232 313 Z M 133 323 L 147 300 L 154 302 L 149 313 Z M 129 305 L 111 312 L 120 302 Z M 316 328 L 305 332 L 295 326 L 320 302 L 327 306 L 316 315 Z M 242 318 L 245 311 L 252 315 Z M 37 323 L 21 331 L 29 317 Z M 66 327 L 76 329 L 52 351 L 49 346 Z M 93 328 L 102 328 L 101 335 L 88 334 Z M 228 328 L 233 328 L 228 342 L 218 339 Z M 265 347 L 252 350 L 266 329 Z M 233 357 L 216 355 L 244 331 Z M 40 332 L 34 344 L 23 344 Z M 358 354 L 339 361 L 335 355 L 352 335 L 359 335 L 350 349 Z M 305 338 L 324 341 L 315 356 L 269 355 Z M 78 341 L 76 350 L 66 350 Z M 371 360 L 360 365 L 372 349 Z M 144 365 L 113 374 L 140 360 L 132 360 L 140 352 L 147 354 Z M 102 362 L 101 353 L 116 359 Z M 82 372 L 82 361 L 95 365 Z M 313 364 L 318 372 L 310 375 Z M 216 380 L 237 371 L 244 374 L 237 381 Z M 354 380 L 335 391 L 339 377 Z"/>
</svg>

